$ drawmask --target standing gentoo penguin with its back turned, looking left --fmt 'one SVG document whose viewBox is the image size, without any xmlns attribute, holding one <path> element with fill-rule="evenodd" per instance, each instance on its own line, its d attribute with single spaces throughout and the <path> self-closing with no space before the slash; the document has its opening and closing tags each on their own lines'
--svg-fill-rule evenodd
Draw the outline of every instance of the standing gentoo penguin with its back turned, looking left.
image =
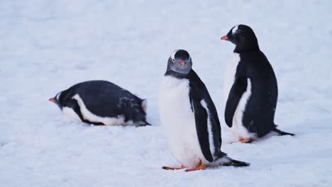
<svg viewBox="0 0 332 187">
<path fill-rule="evenodd" d="M 277 129 L 274 123 L 278 86 L 270 62 L 258 47 L 249 26 L 234 26 L 221 40 L 236 45 L 237 58 L 229 64 L 225 90 L 228 93 L 225 121 L 240 142 L 251 142 L 271 131 L 294 135 Z"/>
</svg>

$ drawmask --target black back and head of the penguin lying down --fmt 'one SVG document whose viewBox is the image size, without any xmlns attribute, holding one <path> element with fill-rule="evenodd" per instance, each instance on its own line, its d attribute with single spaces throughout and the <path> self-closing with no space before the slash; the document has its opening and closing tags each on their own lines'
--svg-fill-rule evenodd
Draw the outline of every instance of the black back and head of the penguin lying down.
<svg viewBox="0 0 332 187">
<path fill-rule="evenodd" d="M 84 81 L 62 91 L 57 103 L 62 107 L 73 108 L 77 101 L 75 94 L 84 101 L 89 111 L 101 117 L 118 117 L 123 115 L 125 120 L 145 121 L 143 100 L 131 92 L 109 81 Z"/>
</svg>

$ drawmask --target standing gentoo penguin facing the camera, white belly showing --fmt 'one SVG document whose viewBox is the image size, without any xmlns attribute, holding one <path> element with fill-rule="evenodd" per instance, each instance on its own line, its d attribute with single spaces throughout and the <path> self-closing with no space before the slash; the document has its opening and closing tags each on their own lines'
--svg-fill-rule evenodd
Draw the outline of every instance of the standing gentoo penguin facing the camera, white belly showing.
<svg viewBox="0 0 332 187">
<path fill-rule="evenodd" d="M 221 127 L 209 91 L 192 69 L 192 58 L 185 50 L 175 50 L 160 82 L 160 122 L 165 128 L 171 152 L 186 171 L 206 165 L 249 166 L 221 152 Z"/>
</svg>

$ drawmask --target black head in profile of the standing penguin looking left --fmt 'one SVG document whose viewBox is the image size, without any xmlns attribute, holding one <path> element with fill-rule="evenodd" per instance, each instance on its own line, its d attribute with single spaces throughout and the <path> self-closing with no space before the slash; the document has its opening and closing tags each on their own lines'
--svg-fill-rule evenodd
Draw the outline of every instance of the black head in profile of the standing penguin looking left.
<svg viewBox="0 0 332 187">
<path fill-rule="evenodd" d="M 228 40 L 236 45 L 234 52 L 245 52 L 259 50 L 258 40 L 253 29 L 245 25 L 233 26 L 227 35 L 221 37 L 221 40 Z"/>
</svg>

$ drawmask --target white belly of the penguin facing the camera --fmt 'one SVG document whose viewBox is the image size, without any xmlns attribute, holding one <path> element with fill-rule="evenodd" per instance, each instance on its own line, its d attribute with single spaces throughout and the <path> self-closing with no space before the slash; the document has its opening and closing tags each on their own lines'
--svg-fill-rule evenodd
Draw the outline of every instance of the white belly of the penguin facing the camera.
<svg viewBox="0 0 332 187">
<path fill-rule="evenodd" d="M 186 167 L 206 162 L 201 152 L 194 113 L 189 101 L 189 80 L 165 76 L 159 90 L 160 122 L 171 152 Z"/>
</svg>

